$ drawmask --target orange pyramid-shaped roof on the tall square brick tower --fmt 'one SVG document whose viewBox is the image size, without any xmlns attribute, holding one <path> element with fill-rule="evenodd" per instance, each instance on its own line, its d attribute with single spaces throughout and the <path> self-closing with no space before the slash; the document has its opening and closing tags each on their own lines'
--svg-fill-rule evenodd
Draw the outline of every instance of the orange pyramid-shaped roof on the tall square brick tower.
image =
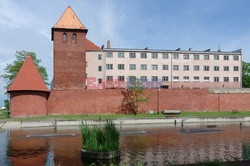
<svg viewBox="0 0 250 166">
<path fill-rule="evenodd" d="M 87 30 L 70 6 L 66 8 L 53 28 Z"/>
</svg>

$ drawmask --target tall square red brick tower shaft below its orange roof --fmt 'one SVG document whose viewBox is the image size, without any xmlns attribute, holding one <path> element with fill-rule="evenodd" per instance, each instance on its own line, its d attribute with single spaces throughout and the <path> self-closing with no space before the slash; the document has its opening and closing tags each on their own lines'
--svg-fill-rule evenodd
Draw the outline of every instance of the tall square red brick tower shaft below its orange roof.
<svg viewBox="0 0 250 166">
<path fill-rule="evenodd" d="M 63 33 L 67 41 L 63 42 Z M 73 34 L 77 41 L 72 40 Z M 86 80 L 86 32 L 54 30 L 54 89 L 84 89 Z"/>
</svg>

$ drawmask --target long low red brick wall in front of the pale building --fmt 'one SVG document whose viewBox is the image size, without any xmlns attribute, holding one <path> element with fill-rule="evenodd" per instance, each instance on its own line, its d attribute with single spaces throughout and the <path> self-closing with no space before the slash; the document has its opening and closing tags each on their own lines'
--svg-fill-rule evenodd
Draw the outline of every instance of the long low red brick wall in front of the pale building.
<svg viewBox="0 0 250 166">
<path fill-rule="evenodd" d="M 150 100 L 140 112 L 157 110 L 157 90 L 146 90 Z M 106 114 L 121 110 L 121 90 L 51 91 L 48 114 Z M 250 110 L 250 94 L 209 94 L 206 89 L 159 91 L 160 110 L 231 111 Z"/>
</svg>

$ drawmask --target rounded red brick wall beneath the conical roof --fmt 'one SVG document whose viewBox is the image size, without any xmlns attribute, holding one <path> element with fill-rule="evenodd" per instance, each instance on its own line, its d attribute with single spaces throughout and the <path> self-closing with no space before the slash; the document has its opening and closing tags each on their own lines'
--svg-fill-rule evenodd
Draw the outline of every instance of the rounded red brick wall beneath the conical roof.
<svg viewBox="0 0 250 166">
<path fill-rule="evenodd" d="M 11 92 L 10 113 L 12 118 L 47 115 L 46 92 Z"/>
</svg>

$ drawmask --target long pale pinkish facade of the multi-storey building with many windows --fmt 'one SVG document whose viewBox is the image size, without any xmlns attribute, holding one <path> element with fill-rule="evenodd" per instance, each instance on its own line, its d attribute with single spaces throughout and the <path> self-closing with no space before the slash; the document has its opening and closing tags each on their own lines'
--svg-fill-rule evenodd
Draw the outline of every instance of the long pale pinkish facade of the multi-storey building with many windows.
<svg viewBox="0 0 250 166">
<path fill-rule="evenodd" d="M 87 52 L 87 88 L 126 87 L 131 78 L 146 88 L 241 88 L 241 58 L 241 50 L 105 48 Z"/>
</svg>

